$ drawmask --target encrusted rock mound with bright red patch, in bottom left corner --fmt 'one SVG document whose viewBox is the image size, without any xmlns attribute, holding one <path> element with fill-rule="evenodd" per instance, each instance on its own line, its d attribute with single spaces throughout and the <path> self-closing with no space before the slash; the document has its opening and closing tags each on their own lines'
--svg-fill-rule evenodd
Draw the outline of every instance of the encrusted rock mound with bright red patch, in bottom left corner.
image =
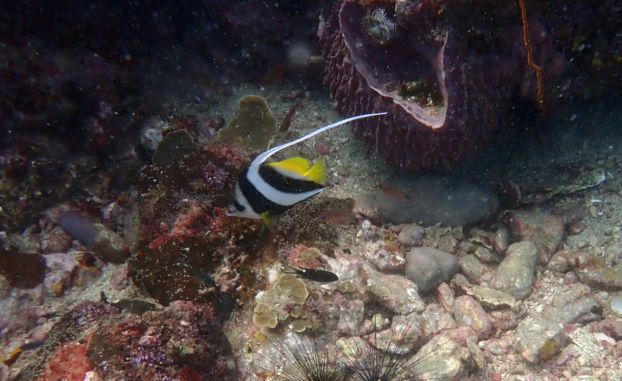
<svg viewBox="0 0 622 381">
<path fill-rule="evenodd" d="M 16 381 L 83 380 L 88 370 L 100 380 L 233 380 L 231 347 L 216 313 L 190 301 L 164 309 L 136 300 L 80 303 Z"/>
</svg>

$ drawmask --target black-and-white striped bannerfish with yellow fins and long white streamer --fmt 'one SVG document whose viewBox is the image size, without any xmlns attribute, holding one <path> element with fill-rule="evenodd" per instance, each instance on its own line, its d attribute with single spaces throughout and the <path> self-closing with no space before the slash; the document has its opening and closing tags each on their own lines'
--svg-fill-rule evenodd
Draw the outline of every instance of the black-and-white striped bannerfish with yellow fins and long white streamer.
<svg viewBox="0 0 622 381">
<path fill-rule="evenodd" d="M 323 190 L 320 181 L 324 180 L 325 170 L 322 160 L 310 166 L 307 159 L 302 157 L 265 163 L 267 158 L 290 145 L 300 143 L 333 127 L 356 119 L 384 114 L 386 112 L 349 117 L 259 154 L 239 176 L 234 190 L 233 206 L 227 211 L 227 215 L 261 218 L 268 226 L 271 226 L 272 216 L 283 213 L 292 208 L 294 204 L 317 195 Z"/>
</svg>

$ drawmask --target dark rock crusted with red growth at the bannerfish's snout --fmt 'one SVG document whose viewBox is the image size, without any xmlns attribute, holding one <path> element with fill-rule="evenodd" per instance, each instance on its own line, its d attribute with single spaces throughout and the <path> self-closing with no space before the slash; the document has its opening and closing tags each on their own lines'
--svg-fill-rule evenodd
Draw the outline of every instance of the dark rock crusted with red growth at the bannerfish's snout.
<svg viewBox="0 0 622 381">
<path fill-rule="evenodd" d="M 218 303 L 221 293 L 233 293 L 243 267 L 267 243 L 261 222 L 225 214 L 236 178 L 249 162 L 241 150 L 216 145 L 142 169 L 141 237 L 129 261 L 142 290 L 164 305 Z"/>
</svg>

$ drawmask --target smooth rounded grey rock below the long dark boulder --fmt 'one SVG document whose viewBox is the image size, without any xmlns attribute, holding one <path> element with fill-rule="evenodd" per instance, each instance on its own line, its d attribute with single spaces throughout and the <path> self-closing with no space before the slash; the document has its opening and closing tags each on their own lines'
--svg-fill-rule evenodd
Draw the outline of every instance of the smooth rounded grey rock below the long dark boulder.
<svg viewBox="0 0 622 381">
<path fill-rule="evenodd" d="M 406 255 L 406 278 L 427 292 L 460 270 L 456 257 L 432 247 L 415 247 Z"/>
</svg>

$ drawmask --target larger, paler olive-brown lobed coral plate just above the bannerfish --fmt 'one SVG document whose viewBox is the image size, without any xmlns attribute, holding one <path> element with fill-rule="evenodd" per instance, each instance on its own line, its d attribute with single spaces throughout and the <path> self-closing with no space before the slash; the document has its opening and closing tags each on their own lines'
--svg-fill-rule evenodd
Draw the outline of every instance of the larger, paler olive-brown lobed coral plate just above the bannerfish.
<svg viewBox="0 0 622 381">
<path fill-rule="evenodd" d="M 276 134 L 276 118 L 270 112 L 266 99 L 258 95 L 243 96 L 238 101 L 238 115 L 218 131 L 218 140 L 243 145 L 251 150 L 266 149 Z"/>
</svg>

